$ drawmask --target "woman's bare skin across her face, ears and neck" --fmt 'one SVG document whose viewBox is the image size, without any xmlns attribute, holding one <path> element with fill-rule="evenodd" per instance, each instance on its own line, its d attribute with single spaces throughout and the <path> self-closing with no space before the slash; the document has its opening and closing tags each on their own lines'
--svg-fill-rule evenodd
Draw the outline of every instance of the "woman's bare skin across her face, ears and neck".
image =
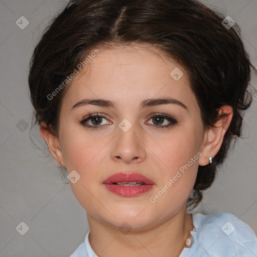
<svg viewBox="0 0 257 257">
<path fill-rule="evenodd" d="M 232 118 L 232 108 L 222 106 L 216 128 L 204 131 L 200 109 L 189 86 L 187 71 L 149 45 L 97 48 L 99 53 L 83 72 L 72 80 L 62 99 L 59 137 L 44 122 L 40 133 L 49 150 L 68 174 L 75 170 L 80 179 L 70 183 L 81 206 L 87 211 L 89 242 L 98 256 L 179 256 L 193 229 L 186 201 L 195 183 L 198 165 L 209 164 L 217 154 Z M 184 75 L 175 81 L 170 72 L 178 67 Z M 162 104 L 140 109 L 147 98 L 175 98 L 178 104 Z M 117 108 L 84 105 L 71 110 L 84 98 L 114 101 Z M 174 117 L 151 118 L 152 113 Z M 87 115 L 104 115 L 101 129 L 80 124 Z M 132 124 L 123 132 L 118 124 L 126 118 Z M 86 123 L 93 125 L 92 121 Z M 159 123 L 158 123 L 159 122 Z M 156 126 L 154 126 L 156 124 Z M 99 126 L 99 125 L 98 125 Z M 159 127 L 157 127 L 159 126 Z M 154 203 L 150 197 L 198 152 L 201 157 Z M 155 182 L 150 191 L 136 197 L 115 195 L 102 184 L 119 173 L 138 172 Z M 131 229 L 121 232 L 119 227 Z M 158 235 L 158 236 L 156 236 Z"/>
</svg>

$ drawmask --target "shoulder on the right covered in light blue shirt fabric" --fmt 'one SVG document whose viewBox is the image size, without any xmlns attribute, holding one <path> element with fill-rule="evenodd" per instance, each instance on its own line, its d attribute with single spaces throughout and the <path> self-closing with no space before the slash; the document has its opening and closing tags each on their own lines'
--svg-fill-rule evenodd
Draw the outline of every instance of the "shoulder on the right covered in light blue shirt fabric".
<svg viewBox="0 0 257 257">
<path fill-rule="evenodd" d="M 257 256 L 253 230 L 231 213 L 193 214 L 196 236 L 209 256 Z M 246 255 L 245 255 L 246 254 Z M 220 255 L 220 256 L 221 256 Z"/>
</svg>

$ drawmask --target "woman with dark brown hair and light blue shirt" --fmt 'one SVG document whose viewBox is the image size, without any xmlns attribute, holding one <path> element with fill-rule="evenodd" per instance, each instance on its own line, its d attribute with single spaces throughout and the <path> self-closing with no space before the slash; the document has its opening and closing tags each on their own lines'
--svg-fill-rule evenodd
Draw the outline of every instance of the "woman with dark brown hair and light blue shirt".
<svg viewBox="0 0 257 257">
<path fill-rule="evenodd" d="M 87 212 L 71 257 L 257 256 L 234 215 L 188 213 L 251 103 L 236 28 L 192 0 L 71 1 L 47 28 L 29 85 L 40 134 Z"/>
</svg>

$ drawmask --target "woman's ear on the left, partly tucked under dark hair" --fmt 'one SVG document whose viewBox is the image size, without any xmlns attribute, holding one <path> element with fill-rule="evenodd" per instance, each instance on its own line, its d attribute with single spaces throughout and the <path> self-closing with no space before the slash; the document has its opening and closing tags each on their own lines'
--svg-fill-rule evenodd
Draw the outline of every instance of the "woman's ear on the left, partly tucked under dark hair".
<svg viewBox="0 0 257 257">
<path fill-rule="evenodd" d="M 47 126 L 45 121 L 42 121 L 39 126 L 39 131 L 41 137 L 45 140 L 48 149 L 55 159 L 56 163 L 60 162 L 61 167 L 65 165 L 63 154 L 60 148 L 60 142 L 56 134 L 52 132 L 52 130 Z"/>
</svg>

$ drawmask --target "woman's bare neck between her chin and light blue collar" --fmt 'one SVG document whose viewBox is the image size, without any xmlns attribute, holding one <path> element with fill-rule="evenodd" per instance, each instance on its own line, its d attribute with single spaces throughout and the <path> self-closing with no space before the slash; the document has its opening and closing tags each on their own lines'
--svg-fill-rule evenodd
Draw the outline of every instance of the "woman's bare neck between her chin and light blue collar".
<svg viewBox="0 0 257 257">
<path fill-rule="evenodd" d="M 89 242 L 98 256 L 162 256 L 178 257 L 185 247 L 188 234 L 193 230 L 191 215 L 186 205 L 172 217 L 154 227 L 142 230 L 119 230 L 87 214 L 90 227 Z"/>
</svg>

